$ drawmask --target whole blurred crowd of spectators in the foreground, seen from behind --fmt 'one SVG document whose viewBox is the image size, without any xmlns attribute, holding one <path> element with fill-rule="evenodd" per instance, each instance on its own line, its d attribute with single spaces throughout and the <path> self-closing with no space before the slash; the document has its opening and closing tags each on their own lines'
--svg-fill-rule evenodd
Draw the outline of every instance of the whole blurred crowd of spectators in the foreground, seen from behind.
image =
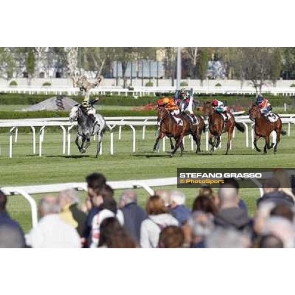
<svg viewBox="0 0 295 295">
<path fill-rule="evenodd" d="M 6 210 L 0 191 L 0 248 L 294 248 L 295 196 L 283 169 L 263 183 L 263 197 L 252 218 L 240 198 L 239 184 L 225 178 L 215 193 L 202 187 L 186 207 L 180 190 L 157 190 L 145 208 L 135 190 L 116 202 L 106 177 L 86 177 L 87 199 L 74 189 L 39 203 L 39 222 L 28 234 Z"/>
</svg>

